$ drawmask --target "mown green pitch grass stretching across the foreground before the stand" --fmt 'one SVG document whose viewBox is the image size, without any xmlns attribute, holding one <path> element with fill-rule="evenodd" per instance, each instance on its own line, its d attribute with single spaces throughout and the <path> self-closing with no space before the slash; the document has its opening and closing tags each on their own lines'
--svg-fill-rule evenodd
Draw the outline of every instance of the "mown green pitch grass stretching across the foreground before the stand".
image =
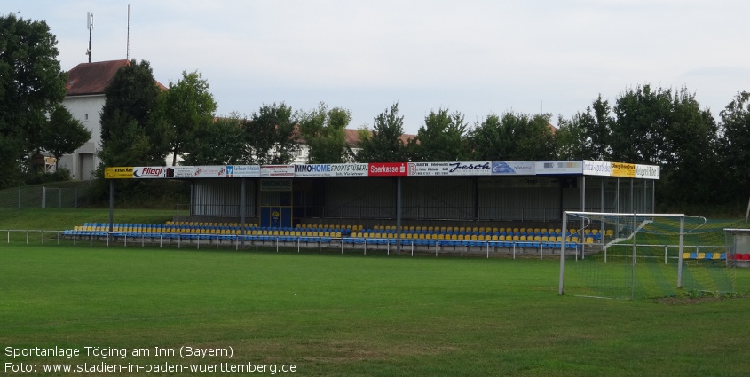
<svg viewBox="0 0 750 377">
<path fill-rule="evenodd" d="M 0 244 L 0 345 L 231 347 L 232 359 L 192 361 L 291 363 L 305 376 L 746 375 L 750 300 L 557 295 L 557 269 L 551 259 Z"/>
</svg>

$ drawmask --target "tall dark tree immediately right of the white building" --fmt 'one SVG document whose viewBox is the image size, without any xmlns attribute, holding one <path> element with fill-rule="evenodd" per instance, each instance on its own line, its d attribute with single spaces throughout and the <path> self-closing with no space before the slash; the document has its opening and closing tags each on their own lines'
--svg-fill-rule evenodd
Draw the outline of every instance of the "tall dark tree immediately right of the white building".
<svg viewBox="0 0 750 377">
<path fill-rule="evenodd" d="M 161 91 L 145 60 L 131 60 L 114 75 L 101 111 L 99 157 L 105 166 L 164 164 L 170 129 L 153 116 Z"/>
</svg>

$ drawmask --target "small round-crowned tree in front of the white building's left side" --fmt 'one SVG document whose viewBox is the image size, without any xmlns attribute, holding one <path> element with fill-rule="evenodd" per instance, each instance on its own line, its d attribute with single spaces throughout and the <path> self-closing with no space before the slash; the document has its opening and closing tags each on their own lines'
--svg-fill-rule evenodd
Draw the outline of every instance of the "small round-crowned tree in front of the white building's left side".
<svg viewBox="0 0 750 377">
<path fill-rule="evenodd" d="M 91 139 L 91 130 L 70 114 L 65 106 L 55 106 L 50 120 L 43 123 L 42 149 L 55 157 L 55 171 L 63 154 L 73 153 Z"/>
</svg>

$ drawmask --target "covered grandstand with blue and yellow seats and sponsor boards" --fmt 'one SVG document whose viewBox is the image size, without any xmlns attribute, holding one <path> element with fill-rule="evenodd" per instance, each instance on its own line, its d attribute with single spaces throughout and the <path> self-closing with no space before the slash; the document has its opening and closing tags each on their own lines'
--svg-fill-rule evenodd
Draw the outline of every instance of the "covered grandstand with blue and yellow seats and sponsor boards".
<svg viewBox="0 0 750 377">
<path fill-rule="evenodd" d="M 67 232 L 68 237 L 106 232 L 160 242 L 544 255 L 559 250 L 562 240 L 575 250 L 596 250 L 615 236 L 612 229 L 582 226 L 561 234 L 564 210 L 651 211 L 659 167 L 607 161 L 459 161 L 117 167 L 105 173 L 111 197 L 116 179 L 188 180 L 187 213 L 170 224 L 84 224 Z"/>
</svg>

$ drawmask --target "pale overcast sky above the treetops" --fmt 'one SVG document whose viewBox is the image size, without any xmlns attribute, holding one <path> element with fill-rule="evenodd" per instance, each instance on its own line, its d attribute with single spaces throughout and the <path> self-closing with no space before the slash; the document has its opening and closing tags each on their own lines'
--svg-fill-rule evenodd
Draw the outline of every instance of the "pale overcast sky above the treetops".
<svg viewBox="0 0 750 377">
<path fill-rule="evenodd" d="M 129 23 L 130 6 L 130 23 Z M 431 111 L 571 119 L 649 84 L 686 88 L 716 119 L 750 90 L 750 2 L 739 0 L 4 0 L 44 20 L 67 71 L 146 60 L 164 85 L 197 71 L 217 115 L 325 103 L 350 128 L 399 104 L 415 134 Z M 129 32 L 130 25 L 130 32 Z M 129 36 L 130 35 L 130 36 Z"/>
</svg>

